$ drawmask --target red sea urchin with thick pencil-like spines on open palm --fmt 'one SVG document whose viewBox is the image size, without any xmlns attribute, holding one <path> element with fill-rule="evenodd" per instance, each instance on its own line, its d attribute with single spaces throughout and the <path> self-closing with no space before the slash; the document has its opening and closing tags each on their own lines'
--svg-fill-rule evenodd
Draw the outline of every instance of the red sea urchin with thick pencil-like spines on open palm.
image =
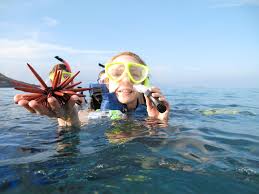
<svg viewBox="0 0 259 194">
<path fill-rule="evenodd" d="M 62 70 L 58 70 L 56 66 L 54 72 L 54 78 L 52 81 L 52 86 L 47 86 L 47 84 L 43 81 L 43 79 L 39 76 L 39 74 L 35 71 L 35 69 L 28 64 L 28 67 L 35 75 L 35 77 L 40 82 L 40 86 L 33 86 L 29 84 L 24 84 L 20 82 L 14 82 L 16 90 L 21 90 L 24 92 L 29 92 L 31 94 L 24 95 L 25 100 L 36 100 L 37 102 L 43 103 L 47 107 L 49 107 L 47 98 L 53 96 L 55 97 L 61 105 L 64 105 L 72 95 L 77 95 L 79 97 L 85 97 L 83 94 L 79 94 L 77 92 L 82 92 L 86 90 L 90 90 L 91 88 L 74 88 L 75 86 L 81 84 L 82 82 L 72 83 L 74 78 L 80 73 L 78 71 L 71 77 L 67 77 L 64 81 L 61 81 L 62 78 Z"/>
</svg>

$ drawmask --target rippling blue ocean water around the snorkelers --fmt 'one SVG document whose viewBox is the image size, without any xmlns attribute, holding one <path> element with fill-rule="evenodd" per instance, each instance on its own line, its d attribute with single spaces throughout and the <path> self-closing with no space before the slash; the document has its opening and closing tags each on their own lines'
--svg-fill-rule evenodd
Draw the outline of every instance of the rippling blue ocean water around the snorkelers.
<svg viewBox="0 0 259 194">
<path fill-rule="evenodd" d="M 168 125 L 60 128 L 0 89 L 0 193 L 259 193 L 259 89 L 167 89 Z"/>
</svg>

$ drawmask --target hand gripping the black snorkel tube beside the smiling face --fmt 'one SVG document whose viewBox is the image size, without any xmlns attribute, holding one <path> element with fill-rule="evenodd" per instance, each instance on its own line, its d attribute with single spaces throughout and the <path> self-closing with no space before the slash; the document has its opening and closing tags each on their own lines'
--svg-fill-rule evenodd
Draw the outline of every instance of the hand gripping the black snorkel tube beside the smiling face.
<svg viewBox="0 0 259 194">
<path fill-rule="evenodd" d="M 169 110 L 170 110 L 169 103 L 166 101 L 165 96 L 162 95 L 162 93 L 161 93 L 159 88 L 152 87 L 151 88 L 151 92 L 152 92 L 151 95 L 154 98 L 158 98 L 158 100 L 163 102 L 163 104 L 166 106 L 166 111 L 164 113 L 160 113 L 156 109 L 156 107 L 154 106 L 152 101 L 148 97 L 145 96 L 148 116 L 153 117 L 153 118 L 157 118 L 157 119 L 160 119 L 160 120 L 163 120 L 163 121 L 167 121 L 168 117 L 169 117 Z"/>
</svg>

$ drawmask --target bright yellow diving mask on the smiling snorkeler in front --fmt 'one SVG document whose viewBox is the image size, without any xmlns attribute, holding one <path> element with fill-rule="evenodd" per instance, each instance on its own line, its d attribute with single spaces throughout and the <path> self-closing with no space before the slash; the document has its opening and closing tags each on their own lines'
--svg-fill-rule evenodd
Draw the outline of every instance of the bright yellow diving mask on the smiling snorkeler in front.
<svg viewBox="0 0 259 194">
<path fill-rule="evenodd" d="M 139 63 L 112 62 L 105 65 L 106 76 L 115 82 L 120 81 L 127 73 L 132 83 L 141 84 L 144 82 L 144 85 L 148 85 L 148 72 L 148 67 Z"/>
</svg>

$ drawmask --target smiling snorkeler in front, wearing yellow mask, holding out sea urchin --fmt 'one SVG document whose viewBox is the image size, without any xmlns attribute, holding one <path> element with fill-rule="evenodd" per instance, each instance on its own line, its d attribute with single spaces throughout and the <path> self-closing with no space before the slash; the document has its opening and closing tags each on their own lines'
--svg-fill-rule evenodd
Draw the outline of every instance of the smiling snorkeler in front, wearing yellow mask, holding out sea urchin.
<svg viewBox="0 0 259 194">
<path fill-rule="evenodd" d="M 105 64 L 105 84 L 112 98 L 103 100 L 101 110 L 119 109 L 124 113 L 138 111 L 139 108 L 147 112 L 149 117 L 167 121 L 169 118 L 169 103 L 162 95 L 159 88 L 152 87 L 150 90 L 154 98 L 159 99 L 166 106 L 166 111 L 160 113 L 154 106 L 150 98 L 137 92 L 134 89 L 135 84 L 146 84 L 148 82 L 148 68 L 145 62 L 132 52 L 122 52 L 111 58 Z M 111 101 L 109 101 L 111 99 Z M 28 111 L 48 117 L 58 118 L 60 126 L 80 126 L 86 112 L 79 111 L 76 102 L 78 96 L 71 96 L 69 101 L 61 106 L 54 97 L 48 98 L 50 108 L 43 106 L 35 100 L 27 101 L 23 95 L 14 97 L 15 103 L 23 106 Z M 116 106 L 114 106 L 116 104 Z M 118 106 L 119 105 L 119 106 Z"/>
</svg>

